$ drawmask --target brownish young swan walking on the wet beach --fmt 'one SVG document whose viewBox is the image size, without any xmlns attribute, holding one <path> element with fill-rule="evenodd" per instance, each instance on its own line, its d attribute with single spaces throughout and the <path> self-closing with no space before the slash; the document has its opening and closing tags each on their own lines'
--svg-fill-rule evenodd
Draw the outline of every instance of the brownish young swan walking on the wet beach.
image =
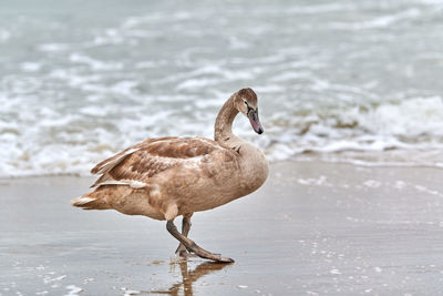
<svg viewBox="0 0 443 296">
<path fill-rule="evenodd" d="M 190 253 L 216 262 L 234 262 L 213 254 L 187 238 L 190 216 L 245 196 L 268 176 L 262 152 L 233 134 L 238 112 L 258 134 L 257 95 L 251 89 L 234 93 L 215 121 L 215 141 L 206 137 L 167 136 L 148 139 L 99 163 L 91 173 L 100 175 L 83 196 L 71 201 L 85 210 L 114 208 L 127 215 L 166 220 L 167 231 L 179 241 L 176 254 Z M 174 220 L 182 215 L 182 233 Z"/>
</svg>

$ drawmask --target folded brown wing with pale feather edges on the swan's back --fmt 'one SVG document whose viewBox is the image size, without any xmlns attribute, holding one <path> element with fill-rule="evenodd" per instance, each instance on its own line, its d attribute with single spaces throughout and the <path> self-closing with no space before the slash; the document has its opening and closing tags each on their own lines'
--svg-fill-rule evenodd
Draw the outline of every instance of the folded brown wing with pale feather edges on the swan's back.
<svg viewBox="0 0 443 296">
<path fill-rule="evenodd" d="M 92 187 L 105 184 L 144 187 L 158 173 L 224 150 L 217 142 L 205 137 L 150 139 L 92 169 L 93 174 L 101 174 Z"/>
</svg>

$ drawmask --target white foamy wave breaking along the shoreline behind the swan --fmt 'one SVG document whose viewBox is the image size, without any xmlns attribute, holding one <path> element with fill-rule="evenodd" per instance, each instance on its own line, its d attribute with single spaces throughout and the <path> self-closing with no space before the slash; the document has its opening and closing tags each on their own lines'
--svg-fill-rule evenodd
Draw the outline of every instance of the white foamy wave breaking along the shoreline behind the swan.
<svg viewBox="0 0 443 296">
<path fill-rule="evenodd" d="M 220 100 L 200 100 L 196 106 L 215 109 L 219 104 Z M 133 116 L 121 115 L 113 120 L 113 125 L 100 119 L 106 119 L 117 111 L 101 105 L 82 106 L 72 115 L 43 110 L 45 119 L 33 129 L 0 122 L 0 154 L 1 159 L 7 160 L 0 165 L 0 175 L 86 174 L 93 163 L 143 140 L 144 134 L 192 135 L 195 131 L 202 131 L 203 135 L 210 137 L 213 132 L 212 126 L 206 124 L 206 113 L 198 113 L 202 118 L 193 122 L 172 110 L 158 110 L 150 115 L 137 111 L 121 109 L 119 113 L 134 112 Z M 302 160 L 317 155 L 321 160 L 356 164 L 441 166 L 443 163 L 436 157 L 436 152 L 443 149 L 441 98 L 415 98 L 373 105 L 372 109 L 354 106 L 310 112 L 290 118 L 287 113 L 265 116 L 264 125 L 268 129 L 262 136 L 254 135 L 247 121 L 241 119 L 235 130 L 240 136 L 262 147 L 270 161 Z M 85 120 L 91 116 L 95 120 L 87 124 Z M 177 124 L 158 124 L 171 116 L 176 119 Z M 285 118 L 288 120 L 282 121 Z M 173 130 L 174 133 L 171 132 Z M 45 139 L 39 139 L 43 135 Z M 385 152 L 384 159 L 378 161 L 382 152 Z M 400 152 L 408 157 L 398 156 Z M 423 159 L 426 153 L 429 157 Z M 360 159 L 356 156 L 358 154 Z M 388 154 L 394 156 L 385 157 Z"/>
</svg>

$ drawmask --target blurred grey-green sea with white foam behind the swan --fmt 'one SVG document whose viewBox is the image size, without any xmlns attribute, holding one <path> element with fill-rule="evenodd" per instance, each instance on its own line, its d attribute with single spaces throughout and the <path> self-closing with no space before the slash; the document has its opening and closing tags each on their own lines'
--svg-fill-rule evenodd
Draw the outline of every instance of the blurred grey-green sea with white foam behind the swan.
<svg viewBox="0 0 443 296">
<path fill-rule="evenodd" d="M 212 137 L 244 86 L 270 161 L 443 166 L 442 49 L 440 0 L 2 0 L 0 176 Z"/>
</svg>

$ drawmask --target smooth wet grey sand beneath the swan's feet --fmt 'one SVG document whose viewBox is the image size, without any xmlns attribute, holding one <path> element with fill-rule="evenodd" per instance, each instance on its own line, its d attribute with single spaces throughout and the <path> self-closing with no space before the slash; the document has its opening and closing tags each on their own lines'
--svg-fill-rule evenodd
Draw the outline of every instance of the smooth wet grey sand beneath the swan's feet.
<svg viewBox="0 0 443 296">
<path fill-rule="evenodd" d="M 230 265 L 176 262 L 164 222 L 72 207 L 92 178 L 0 180 L 0 295 L 437 295 L 442 173 L 272 164 L 258 192 L 193 217 Z"/>
</svg>

